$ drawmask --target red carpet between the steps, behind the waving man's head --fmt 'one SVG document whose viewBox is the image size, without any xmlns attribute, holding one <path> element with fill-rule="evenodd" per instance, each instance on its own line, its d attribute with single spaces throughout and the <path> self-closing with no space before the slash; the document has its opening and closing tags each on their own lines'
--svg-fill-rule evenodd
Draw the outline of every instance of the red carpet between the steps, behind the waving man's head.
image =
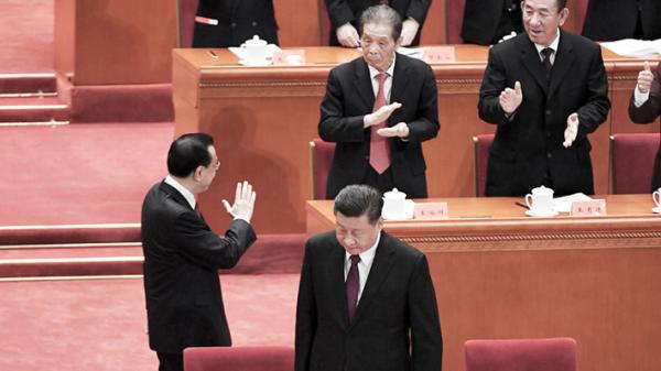
<svg viewBox="0 0 661 371">
<path fill-rule="evenodd" d="M 1 226 L 140 221 L 172 123 L 0 128 Z"/>
</svg>

